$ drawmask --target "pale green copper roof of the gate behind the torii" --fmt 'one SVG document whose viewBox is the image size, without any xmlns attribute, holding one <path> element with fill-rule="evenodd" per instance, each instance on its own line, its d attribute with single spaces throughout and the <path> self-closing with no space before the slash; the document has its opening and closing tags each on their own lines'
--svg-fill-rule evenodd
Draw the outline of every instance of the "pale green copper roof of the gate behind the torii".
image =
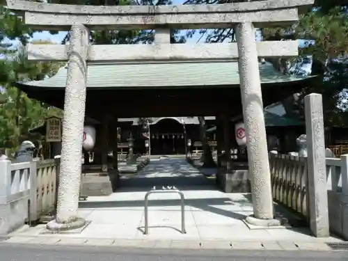
<svg viewBox="0 0 348 261">
<path fill-rule="evenodd" d="M 29 86 L 64 88 L 67 68 L 58 70 L 54 77 L 29 81 Z M 263 84 L 298 81 L 306 77 L 283 75 L 270 63 L 260 63 Z M 191 61 L 152 63 L 103 63 L 88 65 L 88 88 L 148 88 L 180 86 L 239 85 L 237 61 Z"/>
</svg>

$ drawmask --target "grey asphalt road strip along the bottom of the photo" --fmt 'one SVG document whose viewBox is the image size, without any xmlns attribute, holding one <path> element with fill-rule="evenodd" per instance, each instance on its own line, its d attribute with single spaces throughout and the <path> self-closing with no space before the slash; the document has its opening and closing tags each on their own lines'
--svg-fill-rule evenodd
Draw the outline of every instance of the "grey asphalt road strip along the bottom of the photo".
<svg viewBox="0 0 348 261">
<path fill-rule="evenodd" d="M 237 251 L 0 244 L 1 261 L 338 261 L 340 251 Z"/>
</svg>

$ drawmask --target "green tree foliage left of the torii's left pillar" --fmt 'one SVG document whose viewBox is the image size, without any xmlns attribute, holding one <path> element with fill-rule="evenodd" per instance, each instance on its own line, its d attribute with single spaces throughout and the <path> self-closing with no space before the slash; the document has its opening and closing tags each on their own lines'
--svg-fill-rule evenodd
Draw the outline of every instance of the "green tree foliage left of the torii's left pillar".
<svg viewBox="0 0 348 261">
<path fill-rule="evenodd" d="M 26 60 L 24 46 L 32 35 L 33 31 L 22 23 L 22 19 L 0 6 L 0 148 L 15 150 L 25 139 L 37 141 L 40 136 L 29 134 L 29 129 L 42 123 L 50 114 L 59 114 L 58 109 L 51 109 L 41 102 L 29 99 L 13 86 L 17 81 L 40 80 L 52 76 L 60 66 L 58 63 Z M 18 44 L 11 45 L 9 40 L 15 40 Z"/>
</svg>

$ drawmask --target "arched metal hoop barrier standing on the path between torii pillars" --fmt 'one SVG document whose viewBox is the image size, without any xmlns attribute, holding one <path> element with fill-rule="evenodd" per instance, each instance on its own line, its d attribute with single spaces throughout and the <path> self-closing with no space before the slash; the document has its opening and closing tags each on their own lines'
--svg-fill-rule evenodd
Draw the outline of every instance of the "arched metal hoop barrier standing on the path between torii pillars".
<svg viewBox="0 0 348 261">
<path fill-rule="evenodd" d="M 186 234 L 186 229 L 185 229 L 185 203 L 184 203 L 184 193 L 182 193 L 182 191 L 180 191 L 179 189 L 173 187 L 162 187 L 162 189 L 156 189 L 156 187 L 153 187 L 150 191 L 146 192 L 145 194 L 145 211 L 144 211 L 144 215 L 145 215 L 145 230 L 144 230 L 144 235 L 148 235 L 149 234 L 149 214 L 148 214 L 148 200 L 149 200 L 149 196 L 151 194 L 155 194 L 155 193 L 178 193 L 180 195 L 181 198 L 181 232 L 182 234 Z"/>
</svg>

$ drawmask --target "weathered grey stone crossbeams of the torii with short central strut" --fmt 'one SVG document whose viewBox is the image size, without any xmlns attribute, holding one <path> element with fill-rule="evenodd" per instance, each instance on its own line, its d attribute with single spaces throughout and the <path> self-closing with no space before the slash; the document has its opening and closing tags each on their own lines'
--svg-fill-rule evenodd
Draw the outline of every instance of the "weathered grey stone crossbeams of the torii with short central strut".
<svg viewBox="0 0 348 261">
<path fill-rule="evenodd" d="M 299 10 L 313 0 L 267 0 L 219 5 L 185 6 L 81 6 L 7 0 L 8 8 L 24 13 L 33 29 L 67 30 L 74 24 L 88 29 L 156 29 L 156 45 L 93 45 L 88 61 L 183 61 L 238 58 L 237 43 L 171 45 L 170 28 L 231 28 L 241 22 L 253 26 L 292 24 Z M 164 31 L 163 31 L 164 29 Z M 163 31 L 161 33 L 160 31 Z M 68 61 L 69 46 L 29 45 L 29 60 Z M 259 57 L 298 55 L 298 42 L 257 43 Z"/>
</svg>

